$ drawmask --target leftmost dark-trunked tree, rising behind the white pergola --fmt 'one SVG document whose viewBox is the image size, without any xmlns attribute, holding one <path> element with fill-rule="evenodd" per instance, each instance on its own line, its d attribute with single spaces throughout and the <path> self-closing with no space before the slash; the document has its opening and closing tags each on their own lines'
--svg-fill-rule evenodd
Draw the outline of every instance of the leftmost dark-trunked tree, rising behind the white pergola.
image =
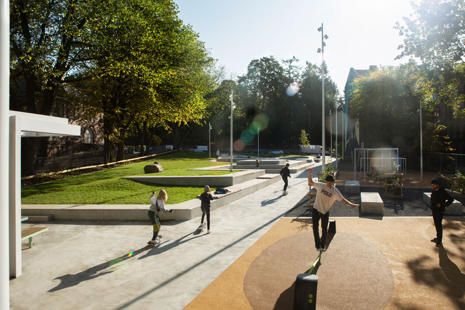
<svg viewBox="0 0 465 310">
<path fill-rule="evenodd" d="M 101 4 L 101 3 L 100 3 Z M 50 115 L 71 71 L 89 60 L 81 40 L 99 16 L 95 0 L 10 1 L 10 109 Z M 21 139 L 21 174 L 31 175 L 38 138 Z"/>
</svg>

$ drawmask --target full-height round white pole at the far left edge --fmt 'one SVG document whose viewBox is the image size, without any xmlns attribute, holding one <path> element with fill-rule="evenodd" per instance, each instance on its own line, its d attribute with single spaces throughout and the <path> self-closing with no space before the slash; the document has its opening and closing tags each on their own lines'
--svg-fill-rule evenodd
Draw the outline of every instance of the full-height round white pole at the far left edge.
<svg viewBox="0 0 465 310">
<path fill-rule="evenodd" d="M 0 0 L 0 309 L 9 309 L 8 131 L 10 85 L 10 3 Z"/>
</svg>

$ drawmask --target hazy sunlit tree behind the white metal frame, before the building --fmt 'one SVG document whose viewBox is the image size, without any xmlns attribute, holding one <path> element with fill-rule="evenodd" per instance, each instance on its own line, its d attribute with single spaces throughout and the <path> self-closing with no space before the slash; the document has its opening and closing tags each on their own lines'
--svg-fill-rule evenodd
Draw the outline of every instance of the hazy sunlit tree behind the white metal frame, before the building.
<svg viewBox="0 0 465 310">
<path fill-rule="evenodd" d="M 398 67 L 386 66 L 370 72 L 354 81 L 350 115 L 360 120 L 361 134 L 369 147 L 398 147 L 399 152 L 419 151 L 418 106 L 424 95 L 424 79 L 427 71 L 413 61 Z M 424 107 L 428 109 L 425 104 Z M 438 151 L 447 147 L 438 132 L 444 128 L 428 123 L 429 114 L 424 115 L 427 123 L 423 129 L 425 151 Z M 363 126 L 363 128 L 362 128 Z M 363 132 L 363 133 L 362 133 Z"/>
</svg>

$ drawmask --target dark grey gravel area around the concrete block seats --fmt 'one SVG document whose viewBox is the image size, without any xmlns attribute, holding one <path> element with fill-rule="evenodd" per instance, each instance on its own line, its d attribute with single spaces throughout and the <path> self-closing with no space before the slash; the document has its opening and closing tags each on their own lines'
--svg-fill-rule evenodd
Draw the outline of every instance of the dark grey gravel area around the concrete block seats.
<svg viewBox="0 0 465 310">
<path fill-rule="evenodd" d="M 345 199 L 360 204 L 360 194 L 351 194 L 344 192 L 344 185 L 338 185 L 336 188 L 341 192 Z M 385 217 L 412 217 L 412 216 L 431 216 L 431 209 L 429 205 L 423 202 L 423 193 L 431 192 L 430 188 L 406 188 L 402 189 L 403 199 L 399 198 L 385 198 L 383 194 L 385 190 L 380 190 L 379 187 L 373 186 L 360 186 L 360 192 L 377 192 L 384 202 L 384 216 Z M 316 190 L 312 188 L 312 193 Z M 389 192 L 388 192 L 389 193 Z M 392 194 L 392 192 L 391 192 Z M 290 193 L 292 195 L 292 193 Z M 312 198 L 314 201 L 315 198 Z M 465 199 L 455 198 L 465 205 Z M 330 217 L 379 217 L 380 214 L 374 213 L 361 213 L 360 207 L 352 209 L 352 207 L 343 204 L 340 201 L 334 202 L 331 209 L 329 209 Z M 445 214 L 445 217 L 456 217 L 452 214 Z M 462 216 L 465 216 L 465 208 L 462 206 Z M 286 217 L 312 217 L 312 210 L 308 208 L 308 196 L 300 199 L 300 201 L 287 212 Z"/>
</svg>

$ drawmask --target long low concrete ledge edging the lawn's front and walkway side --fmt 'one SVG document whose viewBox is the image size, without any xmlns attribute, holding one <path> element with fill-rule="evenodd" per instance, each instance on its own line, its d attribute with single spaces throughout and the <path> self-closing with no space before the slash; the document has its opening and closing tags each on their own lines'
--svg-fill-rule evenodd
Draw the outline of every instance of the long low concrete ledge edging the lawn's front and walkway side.
<svg viewBox="0 0 465 310">
<path fill-rule="evenodd" d="M 268 185 L 279 182 L 281 178 L 254 179 L 241 184 L 241 191 L 211 202 L 210 210 L 216 210 L 226 204 L 246 197 Z M 236 185 L 236 188 L 238 186 Z M 148 197 L 147 197 L 148 198 Z M 70 220 L 148 220 L 150 204 L 23 204 L 21 214 L 53 214 L 54 219 Z M 179 204 L 166 204 L 173 213 L 159 213 L 163 220 L 190 220 L 202 215 L 200 200 L 191 199 Z"/>
</svg>

